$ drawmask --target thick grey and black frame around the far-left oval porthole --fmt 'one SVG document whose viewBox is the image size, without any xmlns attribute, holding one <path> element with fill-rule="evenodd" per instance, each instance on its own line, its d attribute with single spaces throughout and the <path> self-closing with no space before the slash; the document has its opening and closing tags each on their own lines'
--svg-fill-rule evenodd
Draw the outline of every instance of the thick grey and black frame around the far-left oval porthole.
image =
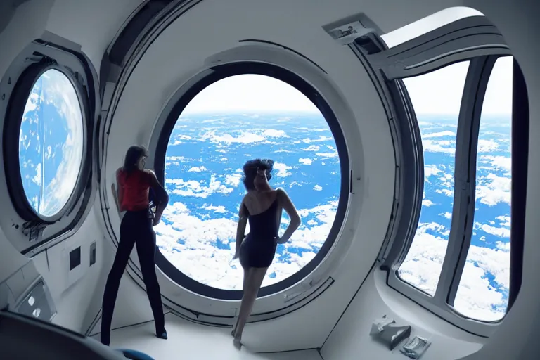
<svg viewBox="0 0 540 360">
<path fill-rule="evenodd" d="M 18 153 L 20 124 L 27 98 L 37 79 L 51 69 L 62 72 L 75 89 L 82 113 L 84 143 L 79 174 L 70 198 L 60 211 L 52 217 L 45 217 L 37 213 L 26 198 Z M 15 212 L 15 224 L 18 223 L 16 217 L 23 221 L 23 226 L 16 226 L 16 229 L 21 228 L 19 231 L 23 236 L 30 237 L 32 241 L 30 246 L 20 249 L 25 255 L 36 255 L 39 249 L 51 240 L 65 238 L 63 235 L 78 229 L 80 219 L 88 213 L 87 205 L 95 188 L 91 181 L 94 167 L 94 149 L 91 144 L 94 135 L 94 115 L 98 107 L 95 82 L 94 70 L 88 58 L 80 52 L 80 46 L 49 32 L 32 41 L 13 60 L 1 82 L 2 92 L 5 94 L 2 101 L 6 103 L 5 113 L 1 114 L 4 117 L 2 125 L 4 172 L 7 192 Z M 9 156 L 9 154 L 17 155 Z M 50 229 L 45 231 L 49 227 Z M 37 229 L 33 237 L 30 229 Z"/>
</svg>

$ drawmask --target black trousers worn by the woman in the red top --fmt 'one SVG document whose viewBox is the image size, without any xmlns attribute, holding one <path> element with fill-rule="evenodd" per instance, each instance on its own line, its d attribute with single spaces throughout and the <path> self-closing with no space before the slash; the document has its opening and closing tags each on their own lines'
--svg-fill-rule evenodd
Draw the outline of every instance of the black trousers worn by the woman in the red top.
<svg viewBox="0 0 540 360">
<path fill-rule="evenodd" d="M 120 241 L 115 256 L 113 268 L 110 269 L 105 293 L 103 294 L 103 305 L 101 314 L 101 342 L 110 344 L 110 323 L 113 321 L 113 311 L 115 309 L 120 279 L 131 250 L 137 244 L 137 255 L 143 273 L 143 281 L 146 286 L 148 300 L 155 321 L 155 331 L 161 335 L 165 331 L 165 317 L 161 302 L 161 290 L 158 277 L 155 275 L 155 232 L 152 227 L 152 219 L 148 219 L 148 210 L 138 212 L 126 212 L 120 224 Z"/>
</svg>

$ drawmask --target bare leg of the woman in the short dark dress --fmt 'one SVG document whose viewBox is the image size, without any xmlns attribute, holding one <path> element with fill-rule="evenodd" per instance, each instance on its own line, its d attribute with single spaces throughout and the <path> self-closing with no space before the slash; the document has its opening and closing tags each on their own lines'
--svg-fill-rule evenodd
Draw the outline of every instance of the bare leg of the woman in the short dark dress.
<svg viewBox="0 0 540 360">
<path fill-rule="evenodd" d="M 253 304 L 255 304 L 255 300 L 257 299 L 257 293 L 259 293 L 264 275 L 266 275 L 266 270 L 268 270 L 267 267 L 251 267 L 245 269 L 244 295 L 242 297 L 242 302 L 240 303 L 236 327 L 234 328 L 234 346 L 238 349 L 242 346 L 240 340 L 242 340 L 244 326 L 250 317 Z"/>
</svg>

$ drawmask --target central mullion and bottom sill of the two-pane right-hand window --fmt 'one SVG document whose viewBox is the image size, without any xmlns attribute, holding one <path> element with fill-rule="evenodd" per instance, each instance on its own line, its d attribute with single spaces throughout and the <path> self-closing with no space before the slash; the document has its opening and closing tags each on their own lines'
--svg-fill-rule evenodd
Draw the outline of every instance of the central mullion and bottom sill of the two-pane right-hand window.
<svg viewBox="0 0 540 360">
<path fill-rule="evenodd" d="M 413 226 L 411 236 L 405 240 L 406 245 L 401 248 L 399 256 L 394 258 L 391 266 L 387 266 L 389 270 L 387 284 L 390 287 L 458 328 L 482 337 L 492 335 L 504 317 L 499 321 L 476 320 L 460 314 L 452 305 L 461 281 L 473 232 L 474 221 L 469 219 L 474 219 L 475 212 L 476 158 L 482 105 L 494 64 L 497 58 L 504 56 L 506 55 L 478 56 L 470 59 L 458 115 L 451 229 L 435 295 L 431 296 L 407 283 L 398 274 L 399 266 L 413 243 L 418 221 L 409 222 L 409 226 Z M 401 80 L 392 81 L 401 82 Z M 423 182 L 422 178 L 421 184 Z M 416 210 L 419 211 L 421 207 L 420 200 L 416 203 Z"/>
</svg>

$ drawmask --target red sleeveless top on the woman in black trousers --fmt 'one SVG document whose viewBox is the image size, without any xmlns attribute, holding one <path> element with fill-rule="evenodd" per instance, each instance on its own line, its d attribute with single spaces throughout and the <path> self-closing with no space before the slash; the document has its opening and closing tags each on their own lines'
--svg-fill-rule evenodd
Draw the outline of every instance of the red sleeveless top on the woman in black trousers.
<svg viewBox="0 0 540 360">
<path fill-rule="evenodd" d="M 123 189 L 122 204 L 120 207 L 128 211 L 148 209 L 148 191 L 150 190 L 150 174 L 136 169 L 127 174 L 120 169 L 118 172 L 118 185 Z"/>
</svg>

